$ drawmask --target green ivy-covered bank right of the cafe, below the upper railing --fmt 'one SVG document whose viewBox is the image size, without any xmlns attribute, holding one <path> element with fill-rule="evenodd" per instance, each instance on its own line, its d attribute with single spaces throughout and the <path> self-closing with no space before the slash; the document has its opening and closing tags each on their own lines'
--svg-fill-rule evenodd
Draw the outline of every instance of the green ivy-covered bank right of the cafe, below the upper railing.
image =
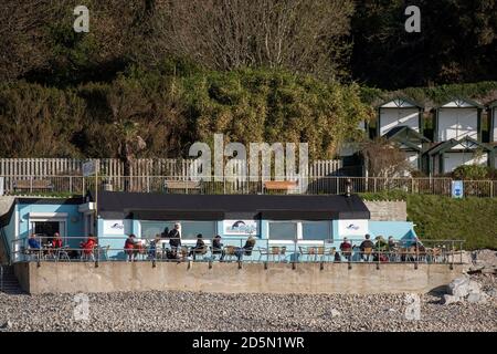
<svg viewBox="0 0 497 354">
<path fill-rule="evenodd" d="M 403 192 L 364 194 L 369 200 L 406 200 L 421 239 L 465 240 L 464 248 L 497 250 L 497 198 L 454 199 Z"/>
</svg>

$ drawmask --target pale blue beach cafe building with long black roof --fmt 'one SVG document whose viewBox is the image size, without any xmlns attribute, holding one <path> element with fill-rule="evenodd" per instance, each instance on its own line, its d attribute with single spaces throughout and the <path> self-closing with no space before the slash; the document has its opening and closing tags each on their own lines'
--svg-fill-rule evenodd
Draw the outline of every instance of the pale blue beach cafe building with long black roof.
<svg viewBox="0 0 497 354">
<path fill-rule="evenodd" d="M 95 210 L 95 206 L 97 210 Z M 95 212 L 96 211 L 96 212 Z M 29 235 L 60 232 L 64 244 L 78 248 L 93 233 L 98 246 L 108 248 L 108 260 L 124 260 L 125 238 L 152 239 L 180 225 L 181 242 L 193 246 L 202 233 L 207 244 L 215 235 L 224 246 L 243 246 L 248 236 L 256 247 L 288 246 L 286 257 L 297 246 L 327 243 L 336 247 L 343 237 L 360 242 L 366 233 L 395 239 L 413 239 L 409 221 L 372 221 L 357 195 L 180 195 L 99 191 L 97 202 L 85 198 L 22 198 L 13 200 L 0 218 L 1 236 L 15 244 L 14 257 L 25 247 Z M 13 240 L 22 240 L 12 242 Z M 359 244 L 357 242 L 357 244 Z M 356 243 L 355 243 L 356 244 Z M 19 252 L 19 253 L 18 253 Z M 260 254 L 253 254 L 257 260 Z M 245 258 L 244 258 L 245 260 Z"/>
</svg>

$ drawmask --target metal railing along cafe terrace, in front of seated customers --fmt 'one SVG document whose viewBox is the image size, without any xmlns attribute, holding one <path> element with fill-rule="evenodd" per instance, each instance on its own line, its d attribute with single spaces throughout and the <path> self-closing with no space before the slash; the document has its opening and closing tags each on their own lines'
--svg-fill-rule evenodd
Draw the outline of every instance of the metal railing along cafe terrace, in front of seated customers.
<svg viewBox="0 0 497 354">
<path fill-rule="evenodd" d="M 74 240 L 74 241 L 73 241 Z M 347 262 L 347 263 L 462 263 L 462 240 L 398 240 L 394 244 L 376 242 L 373 247 L 361 247 L 363 239 L 349 240 L 342 247 L 340 240 L 272 240 L 255 238 L 225 238 L 222 247 L 214 248 L 212 240 L 197 247 L 194 239 L 137 239 L 135 247 L 125 248 L 125 237 L 101 237 L 98 243 L 86 248 L 81 237 L 65 238 L 66 246 L 30 248 L 27 239 L 12 241 L 13 262 L 99 262 L 149 261 L 149 262 Z M 172 241 L 171 241 L 172 240 Z M 176 244 L 175 240 L 180 241 Z M 112 243 L 112 244 L 110 244 Z M 121 243 L 116 246 L 116 243 Z M 73 244 L 73 246 L 68 246 Z"/>
</svg>

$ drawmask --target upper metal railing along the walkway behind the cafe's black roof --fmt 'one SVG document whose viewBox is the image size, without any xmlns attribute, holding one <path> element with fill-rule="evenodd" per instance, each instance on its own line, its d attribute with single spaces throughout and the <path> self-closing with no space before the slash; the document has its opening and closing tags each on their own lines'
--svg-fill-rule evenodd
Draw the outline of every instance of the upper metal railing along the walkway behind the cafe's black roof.
<svg viewBox="0 0 497 354">
<path fill-rule="evenodd" d="M 347 191 L 348 179 L 353 192 L 402 191 L 420 195 L 450 196 L 451 178 L 383 178 L 383 177 L 295 177 L 295 186 L 275 189 L 267 188 L 264 180 L 257 178 L 212 177 L 192 179 L 173 176 L 3 176 L 4 190 L 10 195 L 82 195 L 98 189 L 136 192 L 170 194 L 304 194 L 339 195 Z M 273 180 L 285 180 L 284 177 Z M 178 184 L 183 183 L 183 184 Z M 465 197 L 496 197 L 497 180 L 464 180 Z"/>
</svg>

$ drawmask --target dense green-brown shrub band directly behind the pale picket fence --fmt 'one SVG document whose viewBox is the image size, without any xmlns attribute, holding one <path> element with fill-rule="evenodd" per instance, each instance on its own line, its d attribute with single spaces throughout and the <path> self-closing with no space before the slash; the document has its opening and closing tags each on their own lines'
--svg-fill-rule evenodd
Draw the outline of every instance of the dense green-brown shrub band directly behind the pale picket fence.
<svg viewBox="0 0 497 354">
<path fill-rule="evenodd" d="M 55 88 L 0 85 L 2 157 L 118 157 L 123 127 L 136 126 L 140 157 L 188 155 L 195 140 L 308 142 L 332 158 L 371 115 L 357 84 L 277 69 L 181 73 L 133 67 L 110 83 Z"/>
</svg>

